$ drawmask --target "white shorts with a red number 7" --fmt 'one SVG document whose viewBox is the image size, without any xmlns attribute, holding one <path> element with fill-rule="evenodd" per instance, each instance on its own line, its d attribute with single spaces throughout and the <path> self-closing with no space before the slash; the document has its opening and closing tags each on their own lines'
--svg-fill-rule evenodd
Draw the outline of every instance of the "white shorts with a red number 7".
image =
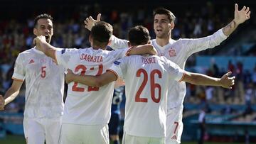
<svg viewBox="0 0 256 144">
<path fill-rule="evenodd" d="M 183 105 L 167 109 L 166 144 L 181 143 Z"/>
</svg>

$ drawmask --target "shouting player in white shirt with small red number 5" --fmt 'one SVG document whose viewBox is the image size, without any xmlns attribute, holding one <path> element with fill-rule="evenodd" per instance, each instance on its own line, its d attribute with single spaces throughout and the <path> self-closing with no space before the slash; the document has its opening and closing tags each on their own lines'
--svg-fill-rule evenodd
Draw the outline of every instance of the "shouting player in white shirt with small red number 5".
<svg viewBox="0 0 256 144">
<path fill-rule="evenodd" d="M 41 14 L 35 18 L 34 35 L 43 35 L 50 43 L 53 36 L 53 18 Z M 26 102 L 23 128 L 26 143 L 56 144 L 63 116 L 64 72 L 38 47 L 21 52 L 15 63 L 11 87 L 0 99 L 0 109 L 13 101 L 26 79 Z"/>
</svg>

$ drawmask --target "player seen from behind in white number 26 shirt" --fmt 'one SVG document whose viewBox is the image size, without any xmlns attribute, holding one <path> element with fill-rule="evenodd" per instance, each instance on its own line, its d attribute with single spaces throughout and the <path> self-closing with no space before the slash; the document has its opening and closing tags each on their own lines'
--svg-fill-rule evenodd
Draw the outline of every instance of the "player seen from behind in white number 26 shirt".
<svg viewBox="0 0 256 144">
<path fill-rule="evenodd" d="M 132 45 L 149 43 L 149 40 L 149 31 L 143 26 L 129 31 L 129 43 Z M 115 61 L 105 74 L 99 76 L 81 76 L 69 71 L 66 81 L 101 88 L 122 77 L 126 90 L 123 143 L 164 144 L 167 93 L 169 87 L 174 87 L 171 82 L 176 80 L 231 89 L 235 77 L 228 77 L 230 74 L 228 72 L 218 79 L 186 72 L 166 57 L 132 55 Z"/>
</svg>

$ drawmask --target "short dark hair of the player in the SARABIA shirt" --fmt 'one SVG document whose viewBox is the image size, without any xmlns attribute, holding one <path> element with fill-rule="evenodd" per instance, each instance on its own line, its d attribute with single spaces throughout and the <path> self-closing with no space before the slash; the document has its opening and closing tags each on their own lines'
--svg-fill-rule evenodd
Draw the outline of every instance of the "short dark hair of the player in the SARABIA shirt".
<svg viewBox="0 0 256 144">
<path fill-rule="evenodd" d="M 110 23 L 99 21 L 92 27 L 90 33 L 94 45 L 107 45 L 113 33 L 113 27 Z"/>
</svg>

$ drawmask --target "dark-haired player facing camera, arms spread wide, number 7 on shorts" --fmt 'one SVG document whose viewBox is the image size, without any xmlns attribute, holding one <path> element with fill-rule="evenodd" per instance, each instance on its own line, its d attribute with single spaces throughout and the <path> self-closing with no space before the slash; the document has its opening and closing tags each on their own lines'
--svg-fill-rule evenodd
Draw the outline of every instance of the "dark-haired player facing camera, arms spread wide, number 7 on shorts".
<svg viewBox="0 0 256 144">
<path fill-rule="evenodd" d="M 167 9 L 154 10 L 154 32 L 156 39 L 151 40 L 151 44 L 156 48 L 159 56 L 164 56 L 176 63 L 184 70 L 186 60 L 195 52 L 214 48 L 225 40 L 235 29 L 250 18 L 249 7 L 243 6 L 239 11 L 238 4 L 235 4 L 234 19 L 227 26 L 221 28 L 213 35 L 205 38 L 195 39 L 171 39 L 171 31 L 174 29 L 175 16 Z M 91 16 L 86 18 L 85 28 L 90 30 L 95 21 L 100 21 L 100 14 L 97 20 Z M 125 48 L 128 45 L 127 40 L 120 40 L 114 35 L 110 47 L 113 49 Z M 182 113 L 183 100 L 186 95 L 185 82 L 173 82 L 174 87 L 170 87 L 167 112 L 167 138 L 166 143 L 181 143 L 181 134 L 183 131 Z"/>
</svg>

